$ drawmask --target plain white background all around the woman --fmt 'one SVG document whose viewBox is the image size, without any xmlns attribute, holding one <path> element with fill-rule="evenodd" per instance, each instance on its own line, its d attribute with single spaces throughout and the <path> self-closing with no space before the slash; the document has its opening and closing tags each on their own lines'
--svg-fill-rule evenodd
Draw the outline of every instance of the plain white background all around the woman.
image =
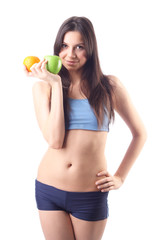
<svg viewBox="0 0 160 240">
<path fill-rule="evenodd" d="M 32 102 L 36 79 L 23 73 L 28 55 L 53 53 L 62 22 L 88 17 L 103 72 L 120 78 L 140 113 L 148 140 L 125 184 L 109 195 L 103 239 L 160 239 L 160 8 L 158 0 L 3 1 L 0 6 L 0 239 L 43 240 L 34 181 L 47 149 Z M 113 174 L 131 135 L 117 116 L 106 144 Z"/>
</svg>

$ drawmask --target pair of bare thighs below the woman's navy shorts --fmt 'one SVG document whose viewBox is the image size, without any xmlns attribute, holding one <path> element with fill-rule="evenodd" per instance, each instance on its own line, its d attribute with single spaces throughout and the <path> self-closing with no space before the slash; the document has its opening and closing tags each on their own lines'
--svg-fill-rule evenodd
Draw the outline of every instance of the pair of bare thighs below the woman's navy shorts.
<svg viewBox="0 0 160 240">
<path fill-rule="evenodd" d="M 39 211 L 46 240 L 100 240 L 106 220 L 84 221 L 64 211 Z"/>
</svg>

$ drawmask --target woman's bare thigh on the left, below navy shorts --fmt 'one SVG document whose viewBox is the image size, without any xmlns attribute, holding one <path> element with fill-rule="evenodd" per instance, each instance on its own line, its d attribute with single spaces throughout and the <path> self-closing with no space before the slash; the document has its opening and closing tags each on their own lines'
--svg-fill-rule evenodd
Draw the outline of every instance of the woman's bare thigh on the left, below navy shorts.
<svg viewBox="0 0 160 240">
<path fill-rule="evenodd" d="M 46 240 L 75 240 L 72 222 L 68 213 L 39 210 L 39 216 Z"/>
</svg>

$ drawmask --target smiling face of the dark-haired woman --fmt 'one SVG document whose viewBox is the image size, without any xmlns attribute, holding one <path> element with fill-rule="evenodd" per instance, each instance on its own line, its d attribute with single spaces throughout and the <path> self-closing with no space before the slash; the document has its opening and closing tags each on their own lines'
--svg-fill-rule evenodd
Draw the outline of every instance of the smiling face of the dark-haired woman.
<svg viewBox="0 0 160 240">
<path fill-rule="evenodd" d="M 68 71 L 78 71 L 84 66 L 87 54 L 80 32 L 70 31 L 64 35 L 59 57 Z"/>
</svg>

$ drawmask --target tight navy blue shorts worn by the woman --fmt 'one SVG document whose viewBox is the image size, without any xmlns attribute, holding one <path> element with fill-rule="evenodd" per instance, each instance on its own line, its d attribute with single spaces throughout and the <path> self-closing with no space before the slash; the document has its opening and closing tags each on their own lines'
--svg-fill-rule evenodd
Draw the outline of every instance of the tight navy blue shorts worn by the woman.
<svg viewBox="0 0 160 240">
<path fill-rule="evenodd" d="M 37 208 L 66 211 L 76 218 L 98 221 L 108 218 L 108 192 L 68 192 L 36 180 Z"/>
</svg>

